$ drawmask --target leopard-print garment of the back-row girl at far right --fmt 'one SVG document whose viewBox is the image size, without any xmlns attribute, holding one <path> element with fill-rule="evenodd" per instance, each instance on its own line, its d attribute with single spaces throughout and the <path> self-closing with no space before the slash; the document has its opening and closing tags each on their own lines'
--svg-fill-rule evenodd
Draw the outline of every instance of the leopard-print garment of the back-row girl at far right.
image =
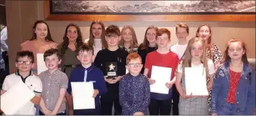
<svg viewBox="0 0 256 116">
<path fill-rule="evenodd" d="M 212 58 L 210 58 L 210 52 L 209 52 L 209 49 L 207 48 L 206 49 L 206 55 L 207 55 L 207 58 L 209 59 L 212 59 L 213 63 L 216 64 L 218 62 L 220 62 L 222 60 L 222 53 L 219 49 L 219 47 L 212 43 Z M 208 79 L 209 81 L 209 79 Z M 209 91 L 209 97 L 208 97 L 208 115 L 210 115 L 210 111 L 211 111 L 211 97 L 212 97 L 212 91 Z"/>
</svg>

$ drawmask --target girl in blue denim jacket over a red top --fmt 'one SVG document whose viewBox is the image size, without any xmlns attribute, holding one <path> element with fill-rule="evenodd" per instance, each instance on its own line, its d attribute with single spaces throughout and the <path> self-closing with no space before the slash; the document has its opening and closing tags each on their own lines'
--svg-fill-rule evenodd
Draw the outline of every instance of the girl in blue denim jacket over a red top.
<svg viewBox="0 0 256 116">
<path fill-rule="evenodd" d="M 212 115 L 254 115 L 255 72 L 248 64 L 245 43 L 231 39 L 212 87 Z"/>
</svg>

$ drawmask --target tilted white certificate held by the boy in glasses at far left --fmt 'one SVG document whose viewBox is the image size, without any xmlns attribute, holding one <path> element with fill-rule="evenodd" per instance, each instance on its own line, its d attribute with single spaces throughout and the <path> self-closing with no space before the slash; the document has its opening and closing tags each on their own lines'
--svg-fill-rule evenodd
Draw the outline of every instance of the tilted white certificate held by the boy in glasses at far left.
<svg viewBox="0 0 256 116">
<path fill-rule="evenodd" d="M 32 90 L 20 81 L 1 96 L 1 109 L 5 115 L 14 115 L 33 97 L 35 94 Z"/>
</svg>

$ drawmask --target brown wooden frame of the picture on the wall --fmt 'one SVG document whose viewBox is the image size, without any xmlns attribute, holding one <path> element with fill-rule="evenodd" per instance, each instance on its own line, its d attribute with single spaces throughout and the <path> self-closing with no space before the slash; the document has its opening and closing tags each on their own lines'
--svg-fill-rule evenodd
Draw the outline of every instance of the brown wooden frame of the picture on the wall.
<svg viewBox="0 0 256 116">
<path fill-rule="evenodd" d="M 61 21 L 239 21 L 254 22 L 255 14 L 171 14 L 171 15 L 88 15 L 51 14 L 50 1 L 44 1 L 44 19 Z"/>
</svg>

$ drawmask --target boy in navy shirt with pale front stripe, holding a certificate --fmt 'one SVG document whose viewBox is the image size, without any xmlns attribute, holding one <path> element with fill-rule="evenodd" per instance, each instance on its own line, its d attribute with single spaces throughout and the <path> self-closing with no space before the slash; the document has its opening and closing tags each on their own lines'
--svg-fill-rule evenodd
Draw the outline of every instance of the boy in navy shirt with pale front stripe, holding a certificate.
<svg viewBox="0 0 256 116">
<path fill-rule="evenodd" d="M 68 81 L 68 93 L 71 94 L 71 82 L 93 82 L 95 109 L 74 110 L 74 115 L 100 115 L 100 96 L 107 92 L 104 75 L 98 67 L 92 64 L 93 48 L 86 44 L 77 49 L 77 59 L 81 66 L 74 68 Z M 81 91 L 83 92 L 83 91 Z"/>
</svg>

